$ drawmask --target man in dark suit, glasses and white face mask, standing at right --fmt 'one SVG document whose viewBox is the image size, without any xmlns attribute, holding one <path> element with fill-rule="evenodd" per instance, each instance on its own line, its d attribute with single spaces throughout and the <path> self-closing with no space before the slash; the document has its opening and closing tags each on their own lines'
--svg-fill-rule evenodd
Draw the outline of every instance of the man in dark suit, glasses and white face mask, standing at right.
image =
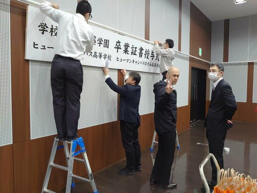
<svg viewBox="0 0 257 193">
<path fill-rule="evenodd" d="M 223 79 L 224 66 L 221 63 L 210 64 L 208 77 L 213 82 L 211 102 L 204 127 L 209 142 L 209 152 L 218 161 L 220 169 L 224 168 L 223 148 L 227 130 L 233 126 L 231 119 L 237 110 L 237 103 L 232 88 Z M 212 181 L 208 182 L 210 190 L 217 184 L 217 169 L 211 159 Z M 202 192 L 205 188 L 202 187 Z"/>
</svg>

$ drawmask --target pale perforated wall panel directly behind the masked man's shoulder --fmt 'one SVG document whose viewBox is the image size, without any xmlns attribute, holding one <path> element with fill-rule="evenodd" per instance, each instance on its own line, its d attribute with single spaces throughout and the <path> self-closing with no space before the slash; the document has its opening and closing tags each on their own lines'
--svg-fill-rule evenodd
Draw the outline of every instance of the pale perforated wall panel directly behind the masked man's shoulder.
<svg viewBox="0 0 257 193">
<path fill-rule="evenodd" d="M 223 78 L 231 85 L 237 102 L 247 100 L 248 64 L 225 64 Z"/>
</svg>

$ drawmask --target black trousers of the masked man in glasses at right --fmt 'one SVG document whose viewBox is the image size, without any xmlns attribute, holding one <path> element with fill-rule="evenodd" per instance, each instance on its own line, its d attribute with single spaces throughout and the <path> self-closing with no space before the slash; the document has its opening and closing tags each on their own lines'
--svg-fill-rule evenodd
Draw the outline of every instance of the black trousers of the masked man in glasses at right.
<svg viewBox="0 0 257 193">
<path fill-rule="evenodd" d="M 226 136 L 227 136 L 227 130 L 222 133 L 209 133 L 206 131 L 206 137 L 209 142 L 209 152 L 215 156 L 220 169 L 224 168 L 223 148 L 224 148 L 224 142 L 225 142 Z M 217 168 L 214 162 L 212 161 L 212 159 L 211 159 L 211 167 L 212 167 L 211 183 L 213 185 L 216 185 Z"/>
</svg>

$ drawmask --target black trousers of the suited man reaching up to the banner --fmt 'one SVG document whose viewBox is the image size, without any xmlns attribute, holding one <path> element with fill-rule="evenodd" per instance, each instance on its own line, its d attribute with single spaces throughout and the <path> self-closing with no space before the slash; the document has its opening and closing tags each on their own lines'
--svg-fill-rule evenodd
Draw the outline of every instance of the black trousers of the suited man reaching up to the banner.
<svg viewBox="0 0 257 193">
<path fill-rule="evenodd" d="M 141 150 L 138 141 L 138 124 L 120 121 L 122 144 L 125 149 L 127 168 L 133 170 L 135 167 L 141 166 Z"/>
</svg>

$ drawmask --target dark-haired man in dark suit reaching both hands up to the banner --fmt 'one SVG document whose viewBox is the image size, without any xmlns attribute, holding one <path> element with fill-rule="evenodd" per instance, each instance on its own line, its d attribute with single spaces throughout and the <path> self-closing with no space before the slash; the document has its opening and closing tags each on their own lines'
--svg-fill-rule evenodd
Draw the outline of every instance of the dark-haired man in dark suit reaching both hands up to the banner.
<svg viewBox="0 0 257 193">
<path fill-rule="evenodd" d="M 121 70 L 124 75 L 125 85 L 116 85 L 109 76 L 109 69 L 103 68 L 105 82 L 115 92 L 120 94 L 119 120 L 122 133 L 122 144 L 125 149 L 127 165 L 119 170 L 121 175 L 134 175 L 134 171 L 141 171 L 141 150 L 138 142 L 138 128 L 140 116 L 138 113 L 141 87 L 138 85 L 141 76 L 137 72 L 130 72 L 129 76 L 125 69 Z"/>
</svg>

